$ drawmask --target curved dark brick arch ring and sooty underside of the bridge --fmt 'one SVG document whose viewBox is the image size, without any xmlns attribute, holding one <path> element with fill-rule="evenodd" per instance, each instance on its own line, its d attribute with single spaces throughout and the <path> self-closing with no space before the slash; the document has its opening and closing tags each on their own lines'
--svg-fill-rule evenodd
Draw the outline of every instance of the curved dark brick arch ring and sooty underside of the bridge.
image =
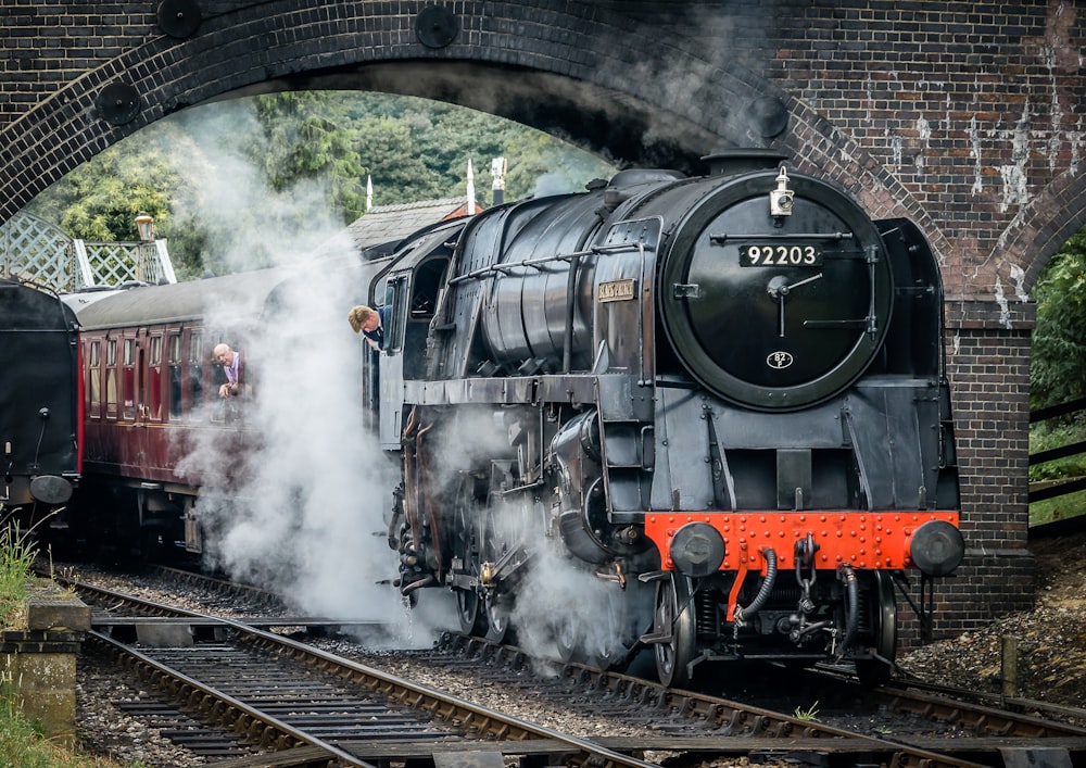
<svg viewBox="0 0 1086 768">
<path fill-rule="evenodd" d="M 341 1 L 298 9 L 280 0 L 216 15 L 181 39 L 149 36 L 4 129 L 4 160 L 15 173 L 0 184 L 0 221 L 79 163 L 167 114 L 228 95 L 315 87 L 452 101 L 556 133 L 626 164 L 697 171 L 697 158 L 721 147 L 776 147 L 860 193 L 887 190 L 883 206 L 904 212 L 908 190 L 889 174 L 863 184 L 874 164 L 846 137 L 826 143 L 804 135 L 825 130 L 817 115 L 799 110 L 797 128 L 806 131 L 787 130 L 790 111 L 800 105 L 755 70 L 727 58 L 707 60 L 682 34 L 631 27 L 608 3 L 593 4 L 591 13 L 576 5 L 493 5 L 491 15 L 433 14 L 440 7 L 405 3 L 418 11 L 390 12 L 380 3 Z M 521 15 L 516 34 L 494 21 Z M 420 29 L 434 17 L 438 33 Z M 689 98 L 695 90 L 698 98 Z M 842 162 L 843 147 L 848 162 Z"/>
</svg>

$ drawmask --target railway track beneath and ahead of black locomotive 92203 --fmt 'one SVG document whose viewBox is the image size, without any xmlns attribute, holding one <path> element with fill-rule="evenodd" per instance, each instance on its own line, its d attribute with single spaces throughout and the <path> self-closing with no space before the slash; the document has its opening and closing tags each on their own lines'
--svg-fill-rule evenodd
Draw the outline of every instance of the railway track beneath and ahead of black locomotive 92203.
<svg viewBox="0 0 1086 768">
<path fill-rule="evenodd" d="M 508 684 L 516 684 L 518 669 L 538 664 L 519 658 L 516 649 L 454 633 L 445 635 L 439 650 L 445 656 L 443 659 L 431 655 L 437 663 L 460 664 L 462 658 L 468 657 L 480 664 L 503 665 L 510 672 L 506 679 Z M 560 696 L 563 703 L 576 706 L 580 692 L 605 690 L 610 692 L 613 702 L 652 708 L 660 730 L 679 736 L 689 736 L 691 730 L 678 723 L 691 721 L 704 733 L 743 739 L 795 738 L 800 733 L 804 736 L 816 733 L 871 736 L 902 747 L 888 765 L 906 765 L 913 758 L 921 763 L 924 759 L 950 760 L 954 765 L 1016 766 L 1022 759 L 1027 760 L 1027 765 L 1086 765 L 1086 728 L 1026 714 L 1035 712 L 1028 707 L 1014 712 L 983 701 L 969 701 L 968 692 L 954 697 L 956 691 L 949 688 L 933 694 L 906 683 L 895 683 L 868 691 L 859 685 L 855 676 L 841 670 L 806 670 L 800 687 L 803 693 L 784 697 L 772 691 L 783 690 L 782 680 L 795 680 L 796 673 L 762 668 L 758 675 L 761 693 L 757 695 L 762 705 L 756 706 L 708 693 L 668 689 L 642 678 L 580 665 L 557 669 L 552 697 Z M 532 687 L 538 684 L 533 682 Z M 822 706 L 808 719 L 797 702 L 809 703 L 811 691 L 820 692 Z M 787 712 L 794 715 L 782 715 Z M 861 732 L 858 728 L 864 730 Z M 922 753 L 929 754 L 919 757 Z M 932 754 L 938 757 L 933 758 Z M 1051 759 L 1059 761 L 1046 763 Z"/>
</svg>

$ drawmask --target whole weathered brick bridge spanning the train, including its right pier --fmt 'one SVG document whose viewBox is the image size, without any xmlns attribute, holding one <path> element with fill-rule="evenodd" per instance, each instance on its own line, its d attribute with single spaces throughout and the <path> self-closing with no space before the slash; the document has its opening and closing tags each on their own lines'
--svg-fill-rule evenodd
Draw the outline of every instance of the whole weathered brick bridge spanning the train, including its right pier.
<svg viewBox="0 0 1086 768">
<path fill-rule="evenodd" d="M 967 567 L 956 628 L 1028 605 L 1028 290 L 1086 224 L 1082 3 L 28 0 L 0 18 L 0 223 L 189 105 L 362 88 L 630 164 L 781 150 L 927 234 L 947 289 Z M 981 552 L 985 557 L 980 557 Z M 976 600 L 982 590 L 984 601 Z M 994 592 L 993 592 L 994 590 Z"/>
</svg>

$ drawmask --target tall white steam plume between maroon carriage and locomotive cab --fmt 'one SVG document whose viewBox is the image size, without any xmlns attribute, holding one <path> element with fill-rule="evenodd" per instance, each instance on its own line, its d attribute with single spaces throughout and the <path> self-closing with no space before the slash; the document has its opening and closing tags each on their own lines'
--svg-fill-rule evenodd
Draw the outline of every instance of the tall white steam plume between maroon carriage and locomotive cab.
<svg viewBox="0 0 1086 768">
<path fill-rule="evenodd" d="M 178 467 L 205 483 L 195 512 L 206 564 L 289 595 L 310 616 L 379 620 L 396 628 L 390 641 L 397 645 L 429 644 L 437 627 L 451 624 L 447 606 L 428 600 L 421 607 L 435 617 L 408 615 L 390 584 L 396 554 L 387 533 L 399 469 L 363 425 L 369 347 L 346 315 L 365 303 L 368 286 L 328 274 L 357 255 L 344 247 L 327 256 L 341 226 L 329 221 L 318 190 L 274 194 L 220 144 L 243 112 L 216 104 L 205 121 L 190 121 L 190 133 L 207 129 L 193 137 L 207 159 L 199 165 L 207 171 L 200 199 L 206 210 L 194 214 L 245 221 L 263 212 L 258 225 L 243 227 L 252 242 L 228 240 L 217 253 L 231 269 L 252 267 L 257 253 L 260 262 L 289 266 L 273 270 L 281 278 L 275 311 L 256 327 L 251 319 L 239 325 L 237 295 L 213 293 L 211 286 L 230 278 L 209 282 L 205 293 L 205 352 L 219 341 L 239 351 L 247 389 L 229 403 L 211 393 L 215 402 L 205 407 L 236 411 L 232 424 L 256 441 L 239 451 L 233 430 L 209 430 Z M 327 257 L 313 261 L 307 254 L 319 243 Z"/>
</svg>

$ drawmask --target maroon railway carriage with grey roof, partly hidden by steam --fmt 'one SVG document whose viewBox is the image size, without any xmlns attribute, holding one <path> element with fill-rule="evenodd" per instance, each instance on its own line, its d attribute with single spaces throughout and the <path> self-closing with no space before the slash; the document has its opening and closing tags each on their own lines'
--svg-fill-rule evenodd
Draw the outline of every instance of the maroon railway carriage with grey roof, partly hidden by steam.
<svg viewBox="0 0 1086 768">
<path fill-rule="evenodd" d="M 262 335 L 301 332 L 291 314 L 301 291 L 327 305 L 314 313 L 319 318 L 306 318 L 308 332 L 332 323 L 343 332 L 349 301 L 369 299 L 383 264 L 365 254 L 330 256 L 296 268 L 70 297 L 84 357 L 85 514 L 77 536 L 86 545 L 119 558 L 202 552 L 198 495 L 232 493 L 243 480 L 242 454 L 261 448 L 252 418 L 260 361 L 250 361 L 247 348 Z M 212 352 L 220 342 L 241 352 L 239 398 L 218 396 L 226 379 Z"/>
</svg>

